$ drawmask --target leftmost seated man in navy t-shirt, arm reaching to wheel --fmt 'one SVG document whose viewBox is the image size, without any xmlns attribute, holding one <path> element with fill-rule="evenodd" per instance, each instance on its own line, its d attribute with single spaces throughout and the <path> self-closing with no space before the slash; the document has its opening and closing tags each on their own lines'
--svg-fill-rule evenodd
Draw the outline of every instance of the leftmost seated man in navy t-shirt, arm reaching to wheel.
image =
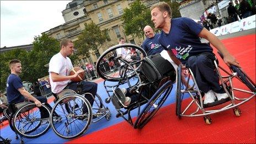
<svg viewBox="0 0 256 144">
<path fill-rule="evenodd" d="M 50 115 L 47 114 L 47 111 L 40 108 L 42 103 L 45 103 L 45 105 L 51 109 L 51 106 L 47 103 L 47 99 L 45 97 L 33 97 L 33 95 L 26 91 L 22 84 L 22 79 L 19 78 L 19 74 L 22 73 L 22 63 L 19 60 L 14 59 L 9 62 L 9 67 L 11 73 L 6 84 L 8 103 L 14 105 L 24 102 L 27 99 L 34 102 L 35 105 L 39 107 L 41 111 L 41 118 L 49 118 Z"/>
</svg>

